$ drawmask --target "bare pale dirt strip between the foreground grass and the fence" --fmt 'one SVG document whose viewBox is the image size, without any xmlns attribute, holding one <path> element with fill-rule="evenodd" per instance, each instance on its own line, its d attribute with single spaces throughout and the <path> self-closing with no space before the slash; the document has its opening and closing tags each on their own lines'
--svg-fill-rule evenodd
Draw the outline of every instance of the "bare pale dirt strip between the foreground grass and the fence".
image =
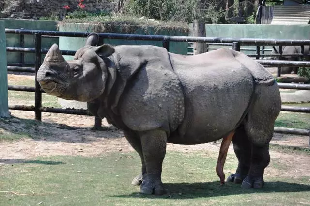
<svg viewBox="0 0 310 206">
<path fill-rule="evenodd" d="M 7 119 L 7 124 L 1 124 L 0 135 L 16 131 L 27 133 L 33 138 L 23 138 L 18 141 L 0 142 L 0 164 L 12 164 L 25 159 L 47 157 L 52 155 L 98 156 L 109 152 L 134 151 L 124 138 L 121 131 L 103 120 L 103 131 L 92 129 L 94 118 L 70 114 L 43 113 L 43 124 L 33 127 L 25 126 L 24 119 L 33 119 L 31 111 L 11 111 L 16 118 Z M 33 121 L 34 122 L 34 121 Z M 14 133 L 14 132 L 13 132 Z M 199 145 L 177 145 L 168 143 L 167 150 L 190 153 L 205 151 L 217 158 L 220 141 Z M 308 147 L 308 137 L 275 134 L 272 143 Z M 233 154 L 230 146 L 229 154 Z M 279 164 L 286 165 L 285 173 L 279 169 L 268 167 L 266 175 L 288 175 L 290 177 L 310 176 L 310 156 L 307 154 L 282 153 L 271 150 L 271 158 Z M 294 166 L 292 166 L 294 165 Z M 226 171 L 227 172 L 227 171 Z M 231 171 L 228 171 L 231 172 Z"/>
</svg>

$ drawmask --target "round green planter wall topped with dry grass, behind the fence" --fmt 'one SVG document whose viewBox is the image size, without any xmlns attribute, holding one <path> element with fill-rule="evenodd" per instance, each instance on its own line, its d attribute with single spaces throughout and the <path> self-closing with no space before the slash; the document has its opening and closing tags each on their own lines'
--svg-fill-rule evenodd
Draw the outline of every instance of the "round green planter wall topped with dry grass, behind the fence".
<svg viewBox="0 0 310 206">
<path fill-rule="evenodd" d="M 92 24 L 81 24 L 81 23 L 66 23 L 59 27 L 59 31 L 62 32 L 94 32 L 96 31 L 97 25 Z M 106 32 L 106 31 L 101 31 Z M 113 33 L 120 33 L 113 32 Z M 151 35 L 178 35 L 187 36 L 186 32 L 181 31 L 167 31 L 167 30 L 155 30 L 153 27 L 149 27 L 147 32 Z M 144 29 L 137 29 L 134 34 L 145 34 Z M 62 50 L 78 50 L 85 45 L 86 38 L 72 38 L 72 37 L 60 37 L 59 38 L 59 48 Z M 122 40 L 122 39 L 104 39 L 104 43 L 111 45 L 155 45 L 162 47 L 161 41 L 141 41 L 141 40 Z M 170 49 L 173 53 L 187 54 L 187 43 L 186 42 L 170 42 Z M 65 56 L 66 59 L 72 59 L 73 57 Z"/>
</svg>

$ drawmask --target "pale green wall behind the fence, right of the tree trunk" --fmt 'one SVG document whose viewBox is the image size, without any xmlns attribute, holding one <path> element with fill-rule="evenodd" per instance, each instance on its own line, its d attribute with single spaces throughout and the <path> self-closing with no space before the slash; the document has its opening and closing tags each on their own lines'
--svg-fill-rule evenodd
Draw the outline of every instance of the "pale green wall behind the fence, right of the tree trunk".
<svg viewBox="0 0 310 206">
<path fill-rule="evenodd" d="M 309 39 L 310 25 L 206 24 L 207 37 Z M 210 46 L 219 47 L 219 46 Z M 255 48 L 242 46 L 241 48 Z M 271 49 L 271 47 L 266 47 Z M 255 51 L 245 52 L 255 54 Z M 268 52 L 266 52 L 268 53 Z"/>
</svg>

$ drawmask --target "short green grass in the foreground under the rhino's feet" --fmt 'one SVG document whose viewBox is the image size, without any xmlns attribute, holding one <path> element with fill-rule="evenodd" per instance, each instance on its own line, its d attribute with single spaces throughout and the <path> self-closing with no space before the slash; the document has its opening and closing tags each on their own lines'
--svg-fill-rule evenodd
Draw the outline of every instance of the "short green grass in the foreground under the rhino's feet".
<svg viewBox="0 0 310 206">
<path fill-rule="evenodd" d="M 225 169 L 234 171 L 236 158 L 228 156 Z M 110 153 L 99 157 L 53 156 L 0 165 L 1 206 L 260 206 L 310 204 L 309 177 L 265 178 L 261 190 L 242 190 L 240 185 L 219 185 L 216 159 L 205 152 L 169 152 L 163 166 L 168 193 L 146 196 L 131 186 L 140 172 L 136 153 Z M 273 165 L 272 165 L 273 166 Z M 275 165 L 277 166 L 277 165 Z M 280 165 L 281 169 L 283 165 Z M 56 192 L 56 193 L 53 193 Z"/>
</svg>

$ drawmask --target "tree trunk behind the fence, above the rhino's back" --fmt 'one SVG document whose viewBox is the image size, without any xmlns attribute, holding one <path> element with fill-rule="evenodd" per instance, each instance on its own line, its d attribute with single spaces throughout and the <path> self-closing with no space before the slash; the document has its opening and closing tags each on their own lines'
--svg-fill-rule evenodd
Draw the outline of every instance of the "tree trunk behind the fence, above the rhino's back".
<svg viewBox="0 0 310 206">
<path fill-rule="evenodd" d="M 199 22 L 198 20 L 194 20 L 193 24 L 193 34 L 192 36 L 201 36 L 205 37 L 205 24 Z M 207 47 L 205 43 L 196 43 L 194 42 L 194 55 L 202 54 L 207 51 Z"/>
</svg>

